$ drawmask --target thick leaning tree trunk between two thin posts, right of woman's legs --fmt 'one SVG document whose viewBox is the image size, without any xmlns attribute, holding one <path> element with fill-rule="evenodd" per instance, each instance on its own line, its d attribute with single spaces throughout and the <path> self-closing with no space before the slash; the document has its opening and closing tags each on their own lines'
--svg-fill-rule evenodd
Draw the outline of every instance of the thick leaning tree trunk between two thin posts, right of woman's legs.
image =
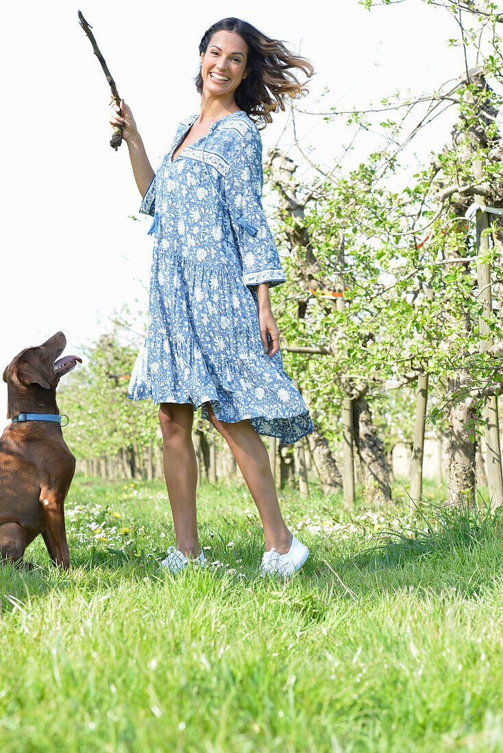
<svg viewBox="0 0 503 753">
<path fill-rule="evenodd" d="M 391 501 L 389 466 L 384 444 L 374 431 L 367 400 L 362 396 L 353 401 L 354 444 L 360 456 L 364 494 L 369 503 Z"/>
</svg>

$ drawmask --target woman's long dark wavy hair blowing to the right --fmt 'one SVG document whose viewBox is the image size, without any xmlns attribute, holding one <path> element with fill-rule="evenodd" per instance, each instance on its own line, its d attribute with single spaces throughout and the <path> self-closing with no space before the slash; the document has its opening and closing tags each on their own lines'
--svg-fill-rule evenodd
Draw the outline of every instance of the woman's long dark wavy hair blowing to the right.
<svg viewBox="0 0 503 753">
<path fill-rule="evenodd" d="M 247 77 L 241 81 L 235 91 L 236 104 L 240 110 L 256 123 L 271 123 L 271 112 L 284 111 L 284 99 L 299 99 L 308 94 L 305 84 L 300 84 L 290 69 L 299 68 L 308 78 L 314 74 L 314 67 L 305 57 L 294 55 L 287 50 L 284 43 L 278 39 L 271 39 L 251 23 L 240 18 L 223 18 L 210 26 L 199 44 L 199 54 L 206 53 L 208 44 L 216 32 L 235 32 L 248 45 Z M 203 77 L 201 66 L 195 78 L 198 93 L 203 91 Z M 261 129 L 262 130 L 262 129 Z"/>
</svg>

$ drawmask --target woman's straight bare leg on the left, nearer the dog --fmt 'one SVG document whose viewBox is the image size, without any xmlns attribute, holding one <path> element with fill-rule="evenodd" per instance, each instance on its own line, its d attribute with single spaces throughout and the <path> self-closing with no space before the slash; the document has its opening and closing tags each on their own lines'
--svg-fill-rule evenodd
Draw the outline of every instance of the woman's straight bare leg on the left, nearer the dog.
<svg viewBox="0 0 503 753">
<path fill-rule="evenodd" d="M 201 547 L 195 505 L 198 466 L 192 444 L 194 409 L 190 404 L 161 403 L 159 421 L 164 477 L 175 526 L 176 549 L 188 557 L 197 557 Z"/>
</svg>

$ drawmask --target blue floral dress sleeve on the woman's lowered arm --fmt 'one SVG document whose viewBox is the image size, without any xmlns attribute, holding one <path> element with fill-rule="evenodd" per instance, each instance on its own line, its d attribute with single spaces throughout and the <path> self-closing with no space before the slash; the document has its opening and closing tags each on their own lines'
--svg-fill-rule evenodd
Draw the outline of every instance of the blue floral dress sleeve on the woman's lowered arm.
<svg viewBox="0 0 503 753">
<path fill-rule="evenodd" d="M 285 282 L 275 241 L 262 207 L 262 139 L 250 131 L 238 143 L 225 174 L 225 200 L 238 239 L 245 285 Z"/>
</svg>

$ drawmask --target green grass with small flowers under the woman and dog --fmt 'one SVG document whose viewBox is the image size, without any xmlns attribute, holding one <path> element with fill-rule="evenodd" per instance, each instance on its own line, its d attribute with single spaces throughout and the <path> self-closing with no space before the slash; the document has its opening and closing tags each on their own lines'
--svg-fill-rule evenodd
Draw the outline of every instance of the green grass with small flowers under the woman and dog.
<svg viewBox="0 0 503 753">
<path fill-rule="evenodd" d="M 434 497 L 434 489 L 427 489 Z M 311 550 L 257 576 L 243 487 L 199 492 L 212 564 L 172 577 L 161 483 L 75 478 L 72 571 L 0 569 L 0 745 L 26 751 L 503 751 L 497 517 L 282 495 Z M 384 532 L 383 532 L 384 531 Z"/>
</svg>

